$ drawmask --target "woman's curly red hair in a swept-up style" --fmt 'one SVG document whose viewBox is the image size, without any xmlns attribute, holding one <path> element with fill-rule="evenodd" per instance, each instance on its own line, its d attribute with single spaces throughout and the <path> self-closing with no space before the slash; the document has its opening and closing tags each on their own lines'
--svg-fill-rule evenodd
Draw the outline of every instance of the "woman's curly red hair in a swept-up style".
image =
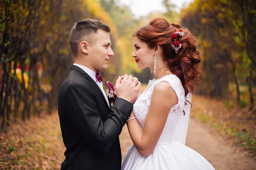
<svg viewBox="0 0 256 170">
<path fill-rule="evenodd" d="M 174 43 L 172 33 L 179 29 L 182 29 L 185 35 L 179 38 L 182 48 L 179 49 L 178 53 L 175 53 L 175 49 L 172 48 Z M 158 45 L 163 48 L 164 60 L 168 63 L 172 74 L 175 74 L 181 80 L 185 96 L 189 92 L 198 90 L 197 85 L 201 80 L 201 71 L 199 69 L 201 53 L 197 38 L 187 28 L 181 28 L 175 23 L 170 24 L 166 19 L 158 17 L 139 28 L 133 36 L 147 43 L 149 48 L 154 48 Z M 185 66 L 184 73 L 181 70 L 181 62 Z M 184 79 L 183 74 L 186 79 Z"/>
</svg>

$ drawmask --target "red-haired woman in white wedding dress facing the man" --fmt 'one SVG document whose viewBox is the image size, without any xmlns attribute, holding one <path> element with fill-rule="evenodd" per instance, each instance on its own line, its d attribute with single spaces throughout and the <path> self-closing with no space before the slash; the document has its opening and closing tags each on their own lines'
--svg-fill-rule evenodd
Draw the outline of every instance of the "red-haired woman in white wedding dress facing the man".
<svg viewBox="0 0 256 170">
<path fill-rule="evenodd" d="M 196 38 L 177 24 L 155 18 L 134 33 L 132 57 L 154 79 L 134 103 L 127 126 L 133 144 L 122 170 L 214 170 L 186 147 L 191 92 L 201 73 Z"/>
</svg>

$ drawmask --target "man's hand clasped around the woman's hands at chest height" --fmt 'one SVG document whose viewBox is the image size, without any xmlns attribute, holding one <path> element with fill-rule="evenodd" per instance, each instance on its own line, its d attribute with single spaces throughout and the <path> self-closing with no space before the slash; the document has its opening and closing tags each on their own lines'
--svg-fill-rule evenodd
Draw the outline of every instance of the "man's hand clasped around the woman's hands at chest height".
<svg viewBox="0 0 256 170">
<path fill-rule="evenodd" d="M 120 76 L 116 80 L 116 96 L 123 97 L 127 99 L 129 102 L 133 103 L 136 101 L 134 98 L 136 97 L 138 91 L 140 90 L 140 82 L 134 81 L 131 75 L 125 74 L 123 78 Z"/>
</svg>

